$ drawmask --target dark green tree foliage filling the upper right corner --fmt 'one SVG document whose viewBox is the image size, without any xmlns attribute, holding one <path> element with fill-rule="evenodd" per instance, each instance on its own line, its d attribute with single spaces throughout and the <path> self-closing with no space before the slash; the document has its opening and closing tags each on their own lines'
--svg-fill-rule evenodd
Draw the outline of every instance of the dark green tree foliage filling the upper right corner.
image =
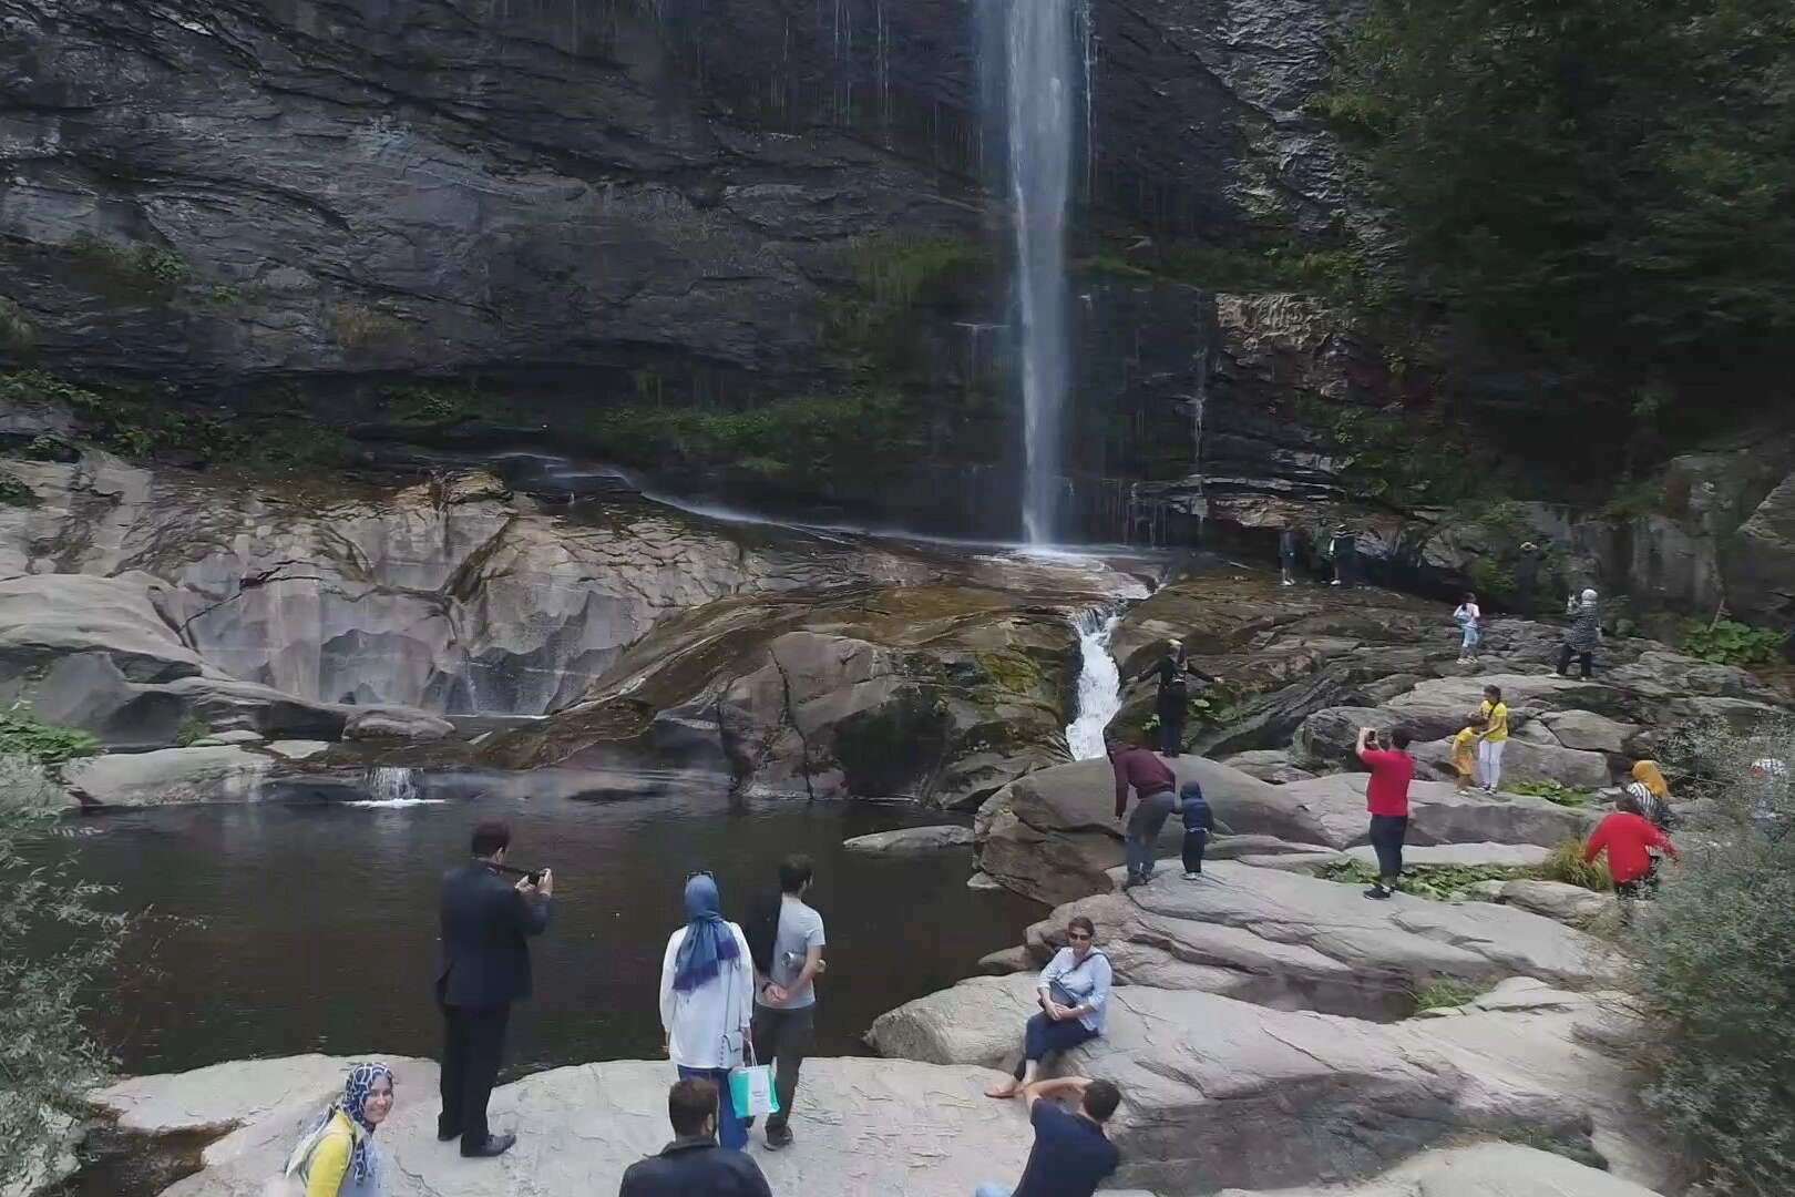
<svg viewBox="0 0 1795 1197">
<path fill-rule="evenodd" d="M 1786 393 L 1795 7 L 1371 0 L 1318 104 L 1393 223 L 1377 269 L 1502 375 L 1483 398 L 1673 422 Z"/>
</svg>

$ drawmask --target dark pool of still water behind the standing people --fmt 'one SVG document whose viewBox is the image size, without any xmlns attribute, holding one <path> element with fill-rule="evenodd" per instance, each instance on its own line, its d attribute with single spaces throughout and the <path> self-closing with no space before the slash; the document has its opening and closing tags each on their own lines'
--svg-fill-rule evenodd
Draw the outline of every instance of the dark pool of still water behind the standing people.
<svg viewBox="0 0 1795 1197">
<path fill-rule="evenodd" d="M 436 888 L 477 818 L 513 827 L 513 861 L 553 865 L 555 922 L 535 942 L 506 1075 L 653 1057 L 661 953 L 679 894 L 711 869 L 725 913 L 772 887 L 786 852 L 817 861 L 827 924 L 819 1053 L 865 1052 L 871 1021 L 971 974 L 1041 908 L 966 888 L 969 852 L 878 858 L 845 836 L 937 813 L 890 804 L 732 804 L 684 779 L 657 797 L 481 795 L 402 809 L 203 806 L 84 820 L 83 874 L 153 917 L 95 1016 L 127 1073 L 298 1052 L 438 1055 L 431 1005 Z"/>
</svg>

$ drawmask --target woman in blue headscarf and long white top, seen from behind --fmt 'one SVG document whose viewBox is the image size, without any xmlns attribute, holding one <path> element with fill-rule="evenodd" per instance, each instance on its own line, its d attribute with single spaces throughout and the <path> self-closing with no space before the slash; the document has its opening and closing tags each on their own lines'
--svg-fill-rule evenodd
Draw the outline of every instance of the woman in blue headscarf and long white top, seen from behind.
<svg viewBox="0 0 1795 1197">
<path fill-rule="evenodd" d="M 686 879 L 686 926 L 661 958 L 661 1028 L 679 1075 L 716 1082 L 716 1140 L 743 1150 L 749 1127 L 729 1100 L 729 1070 L 741 1064 L 754 1018 L 754 964 L 741 928 L 718 913 L 716 879 Z"/>
</svg>

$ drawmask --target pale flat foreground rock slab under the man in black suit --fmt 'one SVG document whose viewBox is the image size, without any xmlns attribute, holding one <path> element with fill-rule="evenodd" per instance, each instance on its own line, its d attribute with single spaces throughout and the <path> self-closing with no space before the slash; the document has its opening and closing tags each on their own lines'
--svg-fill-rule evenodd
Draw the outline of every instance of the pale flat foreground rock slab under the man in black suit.
<svg viewBox="0 0 1795 1197">
<path fill-rule="evenodd" d="M 131 1102 L 199 1125 L 241 1122 L 224 1152 L 163 1190 L 165 1197 L 262 1197 L 305 1120 L 337 1091 L 348 1059 L 293 1057 L 221 1064 L 197 1073 L 142 1077 L 113 1086 L 108 1104 Z M 434 1066 L 407 1061 L 397 1105 L 381 1127 L 388 1158 L 384 1197 L 510 1197 L 513 1193 L 616 1193 L 623 1170 L 673 1138 L 666 1061 L 610 1061 L 556 1068 L 492 1093 L 497 1131 L 517 1147 L 497 1161 L 468 1163 L 436 1141 Z M 409 1066 L 427 1070 L 413 1075 Z M 984 1097 L 996 1077 L 976 1068 L 914 1061 L 811 1059 L 792 1116 L 799 1149 L 750 1152 L 775 1193 L 971 1193 L 982 1181 L 1014 1184 L 1029 1154 L 1021 1102 Z M 298 1100 L 296 1100 L 298 1098 Z"/>
</svg>

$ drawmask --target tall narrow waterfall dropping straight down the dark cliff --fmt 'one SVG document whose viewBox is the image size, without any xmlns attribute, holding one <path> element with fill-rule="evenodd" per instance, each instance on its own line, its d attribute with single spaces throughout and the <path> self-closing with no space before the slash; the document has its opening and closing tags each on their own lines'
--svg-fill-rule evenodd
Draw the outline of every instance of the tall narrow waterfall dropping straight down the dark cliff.
<svg viewBox="0 0 1795 1197">
<path fill-rule="evenodd" d="M 1003 129 L 1016 208 L 1016 298 L 1027 470 L 1021 520 L 1029 544 L 1052 544 L 1070 377 L 1066 206 L 1072 187 L 1079 72 L 1090 68 L 1081 0 L 993 0 L 1003 5 Z M 1088 99 L 1088 97 L 1086 97 Z"/>
</svg>

